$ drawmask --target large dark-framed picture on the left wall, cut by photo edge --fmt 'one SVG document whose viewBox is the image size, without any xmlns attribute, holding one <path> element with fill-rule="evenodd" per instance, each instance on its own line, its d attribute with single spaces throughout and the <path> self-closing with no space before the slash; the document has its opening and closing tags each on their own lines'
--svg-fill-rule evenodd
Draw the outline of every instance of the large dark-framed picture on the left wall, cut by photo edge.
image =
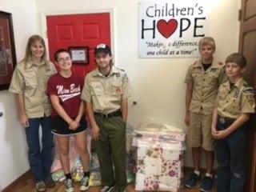
<svg viewBox="0 0 256 192">
<path fill-rule="evenodd" d="M 15 65 L 12 17 L 10 13 L 0 11 L 0 90 L 9 88 Z"/>
</svg>

